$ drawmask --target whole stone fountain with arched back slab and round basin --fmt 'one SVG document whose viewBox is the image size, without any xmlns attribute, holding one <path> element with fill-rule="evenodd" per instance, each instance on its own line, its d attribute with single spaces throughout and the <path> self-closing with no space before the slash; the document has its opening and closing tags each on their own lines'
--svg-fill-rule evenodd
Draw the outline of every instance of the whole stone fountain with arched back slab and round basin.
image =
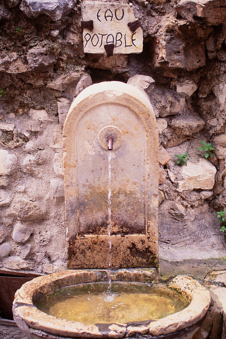
<svg viewBox="0 0 226 339">
<path fill-rule="evenodd" d="M 65 121 L 63 148 L 69 270 L 35 278 L 17 291 L 18 327 L 31 339 L 192 338 L 210 294 L 185 276 L 174 278 L 170 288 L 158 283 L 158 130 L 149 99 L 121 82 L 84 89 Z M 146 302 L 131 321 L 132 300 L 121 321 L 101 315 L 98 321 L 81 321 L 98 284 L 106 288 L 105 297 L 114 295 L 114 285 L 119 298 L 125 286 L 138 291 L 134 298 L 154 286 L 159 300 L 164 294 L 185 303 L 162 316 L 142 318 L 150 306 Z M 62 291 L 70 295 L 82 288 L 86 302 L 75 303 L 78 318 L 50 312 L 51 295 L 61 298 Z"/>
</svg>

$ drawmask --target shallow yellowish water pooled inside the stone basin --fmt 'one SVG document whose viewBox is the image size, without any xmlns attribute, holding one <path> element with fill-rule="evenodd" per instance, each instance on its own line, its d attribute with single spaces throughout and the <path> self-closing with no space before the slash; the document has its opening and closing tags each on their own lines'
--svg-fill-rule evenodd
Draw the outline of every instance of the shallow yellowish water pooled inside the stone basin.
<svg viewBox="0 0 226 339">
<path fill-rule="evenodd" d="M 144 283 L 80 284 L 59 288 L 37 307 L 52 316 L 86 324 L 130 323 L 163 318 L 189 301 L 166 287 Z"/>
</svg>

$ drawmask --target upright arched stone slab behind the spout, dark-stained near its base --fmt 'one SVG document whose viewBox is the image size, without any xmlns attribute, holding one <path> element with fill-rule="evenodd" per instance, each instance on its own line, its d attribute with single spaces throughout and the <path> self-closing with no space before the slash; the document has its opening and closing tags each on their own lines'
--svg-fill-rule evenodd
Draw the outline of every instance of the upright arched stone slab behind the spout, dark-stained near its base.
<svg viewBox="0 0 226 339">
<path fill-rule="evenodd" d="M 111 159 L 111 267 L 157 267 L 156 119 L 146 95 L 118 81 L 84 89 L 65 120 L 68 267 L 108 266 L 109 151 L 99 144 L 98 134 L 109 125 L 123 134 Z"/>
</svg>

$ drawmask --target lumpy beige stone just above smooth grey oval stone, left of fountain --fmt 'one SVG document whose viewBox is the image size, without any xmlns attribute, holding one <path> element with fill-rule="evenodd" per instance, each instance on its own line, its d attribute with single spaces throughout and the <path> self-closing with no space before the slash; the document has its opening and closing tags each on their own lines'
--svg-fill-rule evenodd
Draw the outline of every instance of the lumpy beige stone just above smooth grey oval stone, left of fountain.
<svg viewBox="0 0 226 339">
<path fill-rule="evenodd" d="M 19 199 L 15 206 L 12 207 L 11 213 L 19 220 L 35 220 L 45 218 L 44 206 L 40 207 L 33 201 Z"/>
</svg>

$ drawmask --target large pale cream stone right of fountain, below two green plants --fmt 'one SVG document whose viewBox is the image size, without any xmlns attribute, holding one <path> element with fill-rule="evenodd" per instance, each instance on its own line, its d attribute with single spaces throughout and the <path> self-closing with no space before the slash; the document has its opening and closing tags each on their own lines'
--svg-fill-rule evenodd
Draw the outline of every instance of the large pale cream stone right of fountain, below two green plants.
<svg viewBox="0 0 226 339">
<path fill-rule="evenodd" d="M 202 190 L 211 190 L 214 185 L 214 176 L 216 168 L 207 159 L 200 159 L 199 163 L 193 164 L 190 160 L 187 165 L 181 169 L 184 177 L 178 182 L 178 192 L 202 188 Z"/>
</svg>

